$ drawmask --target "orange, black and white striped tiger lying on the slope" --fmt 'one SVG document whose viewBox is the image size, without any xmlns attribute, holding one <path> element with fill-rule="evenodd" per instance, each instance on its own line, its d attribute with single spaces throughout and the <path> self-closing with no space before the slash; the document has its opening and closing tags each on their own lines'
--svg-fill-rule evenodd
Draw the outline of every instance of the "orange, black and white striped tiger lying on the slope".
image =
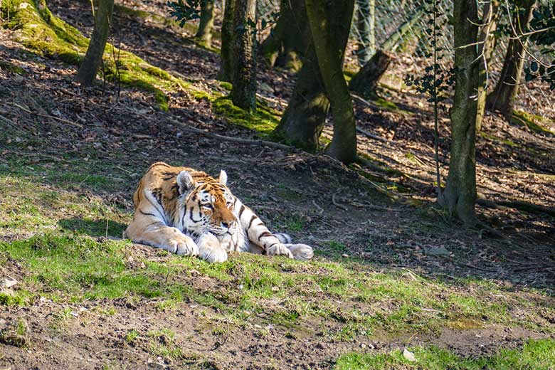
<svg viewBox="0 0 555 370">
<path fill-rule="evenodd" d="M 233 251 L 312 259 L 310 245 L 270 233 L 227 181 L 223 170 L 215 179 L 189 167 L 152 164 L 133 194 L 133 221 L 123 237 L 211 263 L 226 261 Z"/>
</svg>

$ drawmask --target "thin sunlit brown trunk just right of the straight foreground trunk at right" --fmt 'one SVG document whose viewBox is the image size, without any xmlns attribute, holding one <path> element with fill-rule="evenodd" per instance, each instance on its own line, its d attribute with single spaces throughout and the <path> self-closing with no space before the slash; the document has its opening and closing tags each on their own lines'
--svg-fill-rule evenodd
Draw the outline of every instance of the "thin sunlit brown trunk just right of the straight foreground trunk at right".
<svg viewBox="0 0 555 370">
<path fill-rule="evenodd" d="M 490 68 L 490 60 L 495 48 L 495 35 L 497 29 L 497 17 L 499 16 L 499 0 L 490 0 L 484 4 L 484 14 L 482 16 L 482 27 L 480 28 L 480 36 L 478 37 L 478 56 L 482 56 L 479 60 L 478 70 L 478 93 L 477 93 L 477 115 L 476 115 L 476 132 L 482 129 L 482 120 L 484 118 L 486 97 L 487 97 L 487 75 Z"/>
</svg>

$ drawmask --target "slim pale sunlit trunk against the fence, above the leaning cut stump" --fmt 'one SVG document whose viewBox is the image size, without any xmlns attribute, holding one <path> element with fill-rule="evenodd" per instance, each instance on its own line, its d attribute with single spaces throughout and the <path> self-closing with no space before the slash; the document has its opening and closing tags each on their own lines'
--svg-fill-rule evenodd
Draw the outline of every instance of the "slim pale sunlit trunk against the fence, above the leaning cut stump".
<svg viewBox="0 0 555 370">
<path fill-rule="evenodd" d="M 365 65 L 376 53 L 376 0 L 356 0 L 356 57 Z"/>
</svg>

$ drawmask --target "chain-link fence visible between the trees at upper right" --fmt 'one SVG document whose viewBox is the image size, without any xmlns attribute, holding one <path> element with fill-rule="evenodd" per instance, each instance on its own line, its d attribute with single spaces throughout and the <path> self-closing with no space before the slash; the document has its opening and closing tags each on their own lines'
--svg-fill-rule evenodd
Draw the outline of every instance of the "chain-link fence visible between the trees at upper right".
<svg viewBox="0 0 555 370">
<path fill-rule="evenodd" d="M 485 2 L 480 1 L 479 4 L 482 7 L 485 6 Z M 280 0 L 258 0 L 257 6 L 259 21 L 263 20 L 270 25 L 275 22 L 280 10 Z M 425 32 L 431 27 L 431 15 L 425 12 L 426 6 L 430 9 L 430 4 L 425 4 L 424 1 L 356 0 L 349 46 L 351 54 L 347 53 L 346 56 L 348 62 L 364 64 L 376 48 L 382 48 L 393 57 L 404 60 L 409 65 L 408 70 L 411 74 L 423 75 L 425 68 L 433 63 L 432 58 L 426 57 L 433 48 L 430 36 Z M 453 66 L 453 27 L 448 25 L 453 0 L 438 0 L 436 6 L 438 24 L 440 24 L 436 40 L 440 53 L 443 54 L 443 58 L 438 63 L 440 68 L 448 70 Z M 506 12 L 507 9 L 503 8 L 501 11 Z M 267 29 L 260 37 L 263 38 L 268 32 Z M 489 65 L 489 88 L 492 88 L 499 79 L 508 38 L 508 36 L 502 36 L 497 41 Z M 540 56 L 537 48 L 529 46 L 528 50 L 535 56 Z M 401 77 L 400 80 L 404 78 L 404 76 L 399 77 Z M 549 90 L 542 87 L 538 83 L 533 85 L 522 83 L 519 88 L 519 99 L 526 100 L 527 109 L 536 110 L 536 113 L 549 109 L 544 107 L 546 99 L 549 98 L 547 95 Z"/>
</svg>

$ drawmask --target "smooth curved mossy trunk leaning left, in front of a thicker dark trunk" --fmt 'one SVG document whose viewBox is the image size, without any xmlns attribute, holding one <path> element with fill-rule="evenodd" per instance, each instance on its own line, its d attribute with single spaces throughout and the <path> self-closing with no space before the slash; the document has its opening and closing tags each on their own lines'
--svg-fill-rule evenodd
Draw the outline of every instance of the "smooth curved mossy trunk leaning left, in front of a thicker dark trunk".
<svg viewBox="0 0 555 370">
<path fill-rule="evenodd" d="M 356 127 L 353 102 L 342 65 L 354 0 L 339 4 L 327 0 L 306 0 L 306 6 L 320 74 L 334 117 L 334 137 L 326 151 L 331 157 L 351 163 L 356 159 Z M 344 42 L 337 42 L 338 36 L 344 38 Z"/>
</svg>

